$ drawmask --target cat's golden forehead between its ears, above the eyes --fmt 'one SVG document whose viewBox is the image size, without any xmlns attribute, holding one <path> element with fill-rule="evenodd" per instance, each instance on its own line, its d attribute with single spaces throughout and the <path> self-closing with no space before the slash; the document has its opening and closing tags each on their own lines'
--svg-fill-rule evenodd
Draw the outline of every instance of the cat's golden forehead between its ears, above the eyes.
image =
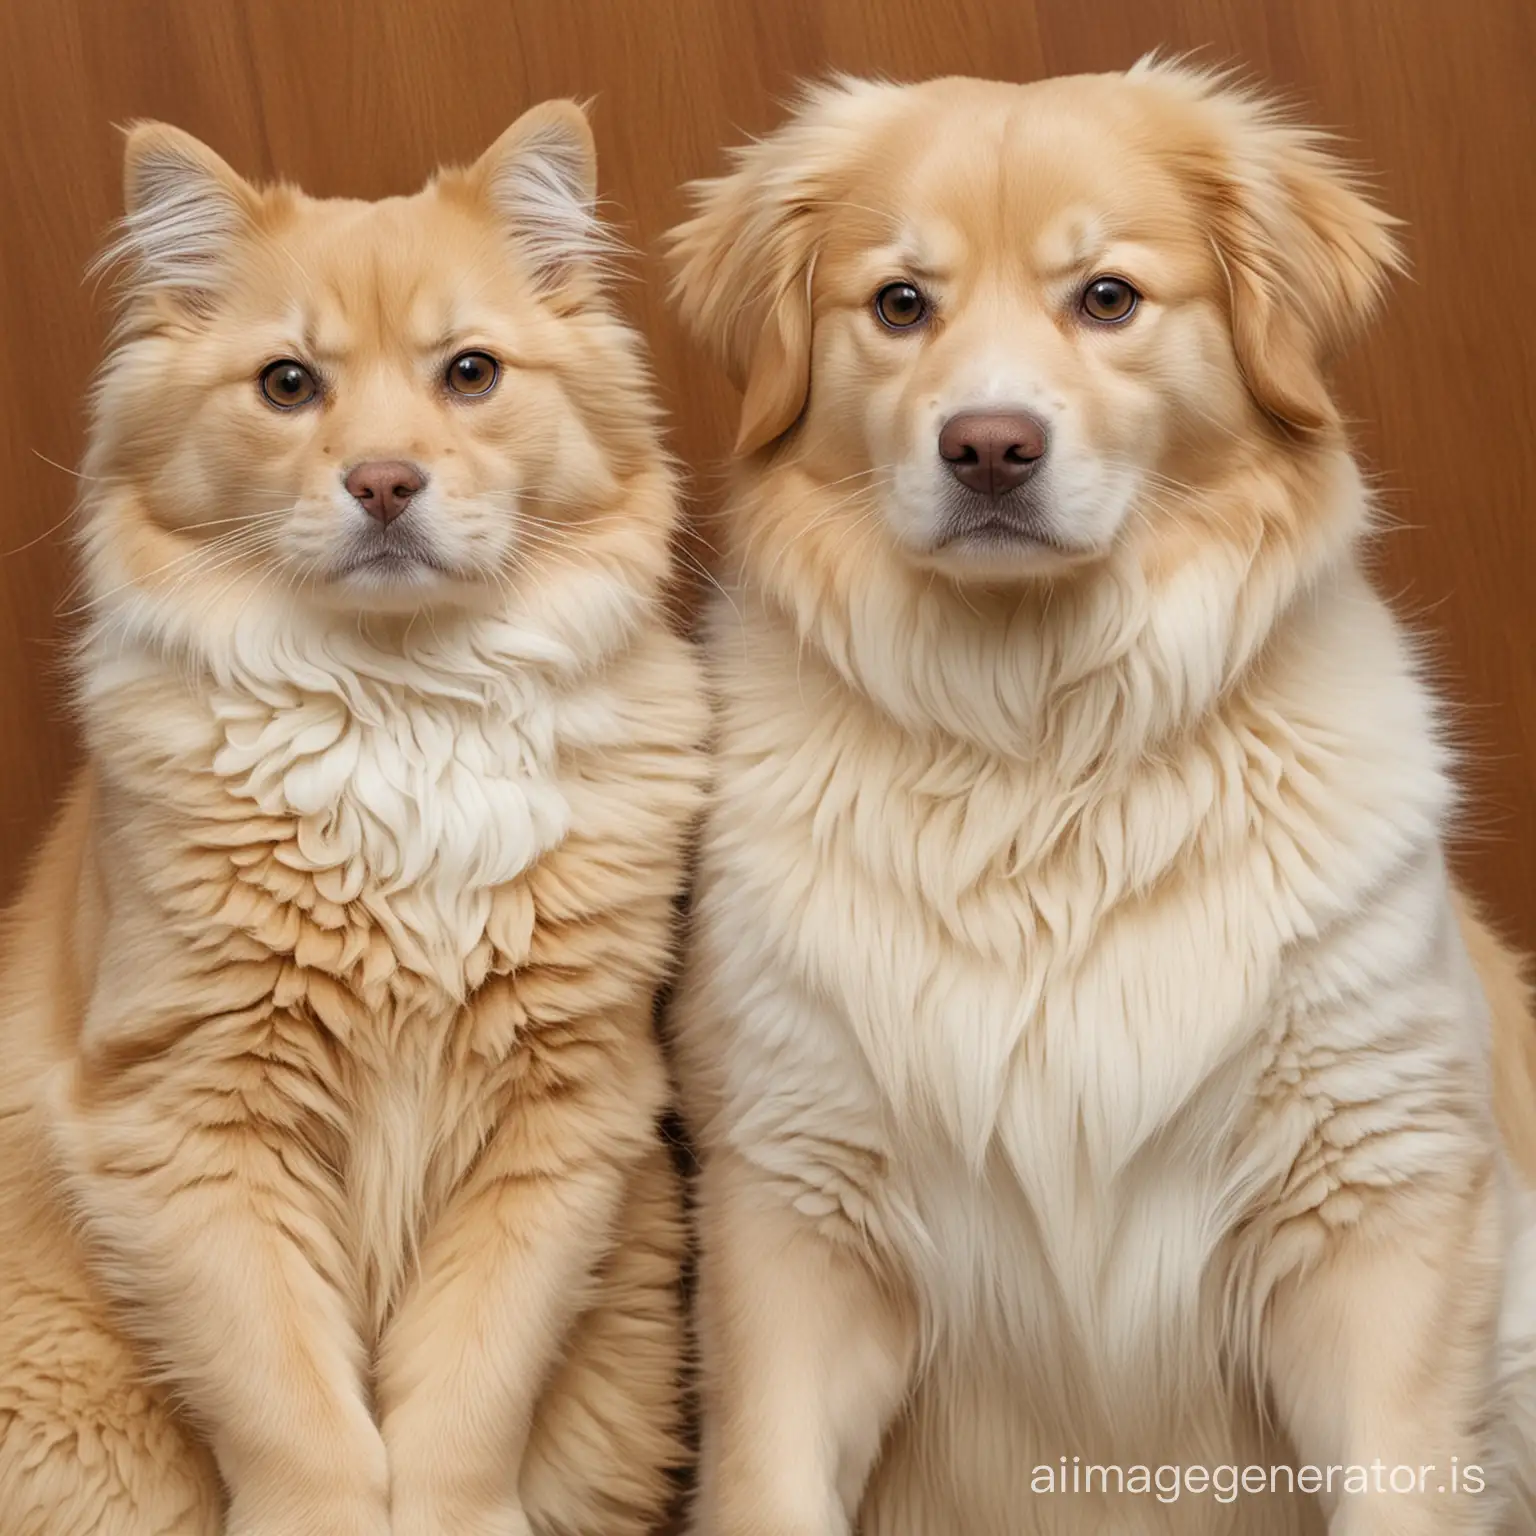
<svg viewBox="0 0 1536 1536">
<path fill-rule="evenodd" d="M 430 190 L 304 198 L 267 247 L 250 300 L 280 309 L 321 353 L 430 350 L 518 309 L 521 284 L 496 232 Z"/>
</svg>

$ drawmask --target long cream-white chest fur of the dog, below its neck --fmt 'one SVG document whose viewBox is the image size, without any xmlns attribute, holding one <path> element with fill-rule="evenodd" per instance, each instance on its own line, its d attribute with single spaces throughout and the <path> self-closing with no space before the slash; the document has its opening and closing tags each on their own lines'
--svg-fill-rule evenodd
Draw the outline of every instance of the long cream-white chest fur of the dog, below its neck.
<svg viewBox="0 0 1536 1536">
<path fill-rule="evenodd" d="M 731 836 L 699 905 L 711 1006 L 733 1020 L 723 1124 L 803 1215 L 899 1258 L 929 1385 L 900 1430 L 925 1448 L 892 1465 L 972 1467 L 1000 1502 L 957 1502 L 965 1528 L 1055 1530 L 1008 1501 L 1063 1453 L 1264 1461 L 1276 1448 L 1226 1390 L 1256 1316 L 1244 1217 L 1304 1158 L 1319 1103 L 1369 1106 L 1393 1178 L 1428 1167 L 1432 1138 L 1399 1144 L 1398 1126 L 1479 1049 L 1456 966 L 1424 968 L 1444 871 L 1413 849 L 1447 788 L 1390 627 L 1356 624 L 1353 645 L 1379 647 L 1358 676 L 1318 682 L 1303 656 L 1306 693 L 1276 674 L 1091 793 L 1049 757 L 828 710 L 814 657 L 773 682 L 757 645 L 733 682 Z M 1382 880 L 1399 894 L 1359 915 Z M 935 1444 L 955 1424 L 995 1444 Z M 1207 1513 L 1212 1530 L 1230 1514 Z"/>
</svg>

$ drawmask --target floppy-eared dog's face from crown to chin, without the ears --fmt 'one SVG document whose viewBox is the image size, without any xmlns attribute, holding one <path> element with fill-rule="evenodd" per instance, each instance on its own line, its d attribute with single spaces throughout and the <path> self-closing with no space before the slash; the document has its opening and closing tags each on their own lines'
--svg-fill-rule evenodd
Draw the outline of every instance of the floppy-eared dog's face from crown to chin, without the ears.
<svg viewBox="0 0 1536 1536">
<path fill-rule="evenodd" d="M 1123 123 L 965 97 L 874 135 L 817 261 L 808 435 L 883 472 L 915 559 L 1052 570 L 1109 547 L 1183 418 L 1230 418 L 1213 255 Z"/>
</svg>

